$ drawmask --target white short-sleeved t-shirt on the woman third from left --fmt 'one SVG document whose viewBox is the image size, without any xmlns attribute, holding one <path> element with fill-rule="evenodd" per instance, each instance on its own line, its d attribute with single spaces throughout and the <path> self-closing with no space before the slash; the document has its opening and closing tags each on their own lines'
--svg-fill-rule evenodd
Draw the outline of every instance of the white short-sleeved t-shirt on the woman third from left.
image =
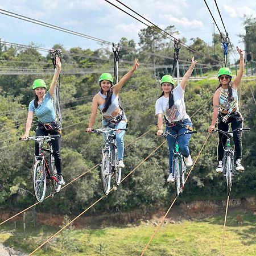
<svg viewBox="0 0 256 256">
<path fill-rule="evenodd" d="M 177 106 L 177 113 L 175 117 L 175 122 L 181 119 L 190 119 L 186 112 L 185 101 L 184 101 L 184 90 L 181 85 L 177 85 L 172 92 L 174 93 L 174 105 Z M 169 97 L 160 97 L 155 102 L 155 114 L 166 114 L 166 110 L 169 108 Z"/>
</svg>

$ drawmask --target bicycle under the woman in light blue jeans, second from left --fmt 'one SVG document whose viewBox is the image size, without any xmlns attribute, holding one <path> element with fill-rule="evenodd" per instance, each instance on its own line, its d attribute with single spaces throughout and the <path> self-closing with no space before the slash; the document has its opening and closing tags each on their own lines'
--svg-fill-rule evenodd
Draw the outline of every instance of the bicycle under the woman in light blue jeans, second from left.
<svg viewBox="0 0 256 256">
<path fill-rule="evenodd" d="M 105 148 L 102 150 L 101 162 L 101 183 L 105 195 L 110 191 L 111 177 L 115 184 L 119 185 L 121 181 L 122 168 L 117 167 L 117 144 L 115 142 L 116 131 L 127 131 L 127 129 L 92 129 L 92 133 L 102 133 L 105 135 Z"/>
</svg>

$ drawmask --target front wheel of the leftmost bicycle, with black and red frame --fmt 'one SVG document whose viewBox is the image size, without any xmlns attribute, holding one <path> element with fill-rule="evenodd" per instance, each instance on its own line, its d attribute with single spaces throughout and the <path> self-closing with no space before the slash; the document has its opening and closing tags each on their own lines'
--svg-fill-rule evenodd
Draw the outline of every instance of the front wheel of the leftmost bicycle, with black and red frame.
<svg viewBox="0 0 256 256">
<path fill-rule="evenodd" d="M 33 185 L 36 200 L 42 203 L 46 195 L 46 173 L 43 160 L 37 160 L 34 164 Z"/>
</svg>

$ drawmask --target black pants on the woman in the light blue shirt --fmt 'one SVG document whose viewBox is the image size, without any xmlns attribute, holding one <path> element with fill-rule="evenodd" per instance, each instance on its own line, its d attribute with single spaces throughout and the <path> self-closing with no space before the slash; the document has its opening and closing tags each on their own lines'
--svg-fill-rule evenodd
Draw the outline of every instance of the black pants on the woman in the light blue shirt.
<svg viewBox="0 0 256 256">
<path fill-rule="evenodd" d="M 47 131 L 43 127 L 36 129 L 36 136 L 60 135 L 58 131 Z M 58 175 L 62 175 L 62 159 L 60 155 L 61 137 L 52 139 L 52 151 L 55 159 L 55 166 Z M 35 155 L 39 155 L 39 143 L 35 142 Z"/>
</svg>

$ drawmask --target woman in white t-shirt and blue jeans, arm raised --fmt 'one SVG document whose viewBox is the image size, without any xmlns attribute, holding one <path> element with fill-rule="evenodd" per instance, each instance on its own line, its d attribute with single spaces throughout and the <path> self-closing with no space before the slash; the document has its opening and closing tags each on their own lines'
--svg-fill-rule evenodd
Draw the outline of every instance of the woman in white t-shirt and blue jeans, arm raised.
<svg viewBox="0 0 256 256">
<path fill-rule="evenodd" d="M 155 102 L 155 114 L 158 116 L 158 131 L 156 134 L 158 136 L 163 133 L 163 117 L 166 121 L 166 130 L 170 131 L 171 134 L 181 134 L 189 129 L 189 127 L 192 128 L 191 119 L 185 108 L 184 91 L 186 83 L 191 76 L 196 63 L 197 61 L 194 60 L 194 57 L 191 57 L 191 66 L 183 76 L 180 84 L 175 88 L 172 76 L 166 75 L 162 77 L 160 84 L 163 93 Z M 193 164 L 188 148 L 190 137 L 191 134 L 184 134 L 179 137 L 180 152 L 185 157 L 187 166 L 192 166 Z M 175 139 L 171 136 L 167 136 L 167 143 L 170 165 L 170 175 L 168 176 L 167 181 L 174 182 L 174 176 L 172 175 L 172 156 L 174 154 Z"/>
</svg>

